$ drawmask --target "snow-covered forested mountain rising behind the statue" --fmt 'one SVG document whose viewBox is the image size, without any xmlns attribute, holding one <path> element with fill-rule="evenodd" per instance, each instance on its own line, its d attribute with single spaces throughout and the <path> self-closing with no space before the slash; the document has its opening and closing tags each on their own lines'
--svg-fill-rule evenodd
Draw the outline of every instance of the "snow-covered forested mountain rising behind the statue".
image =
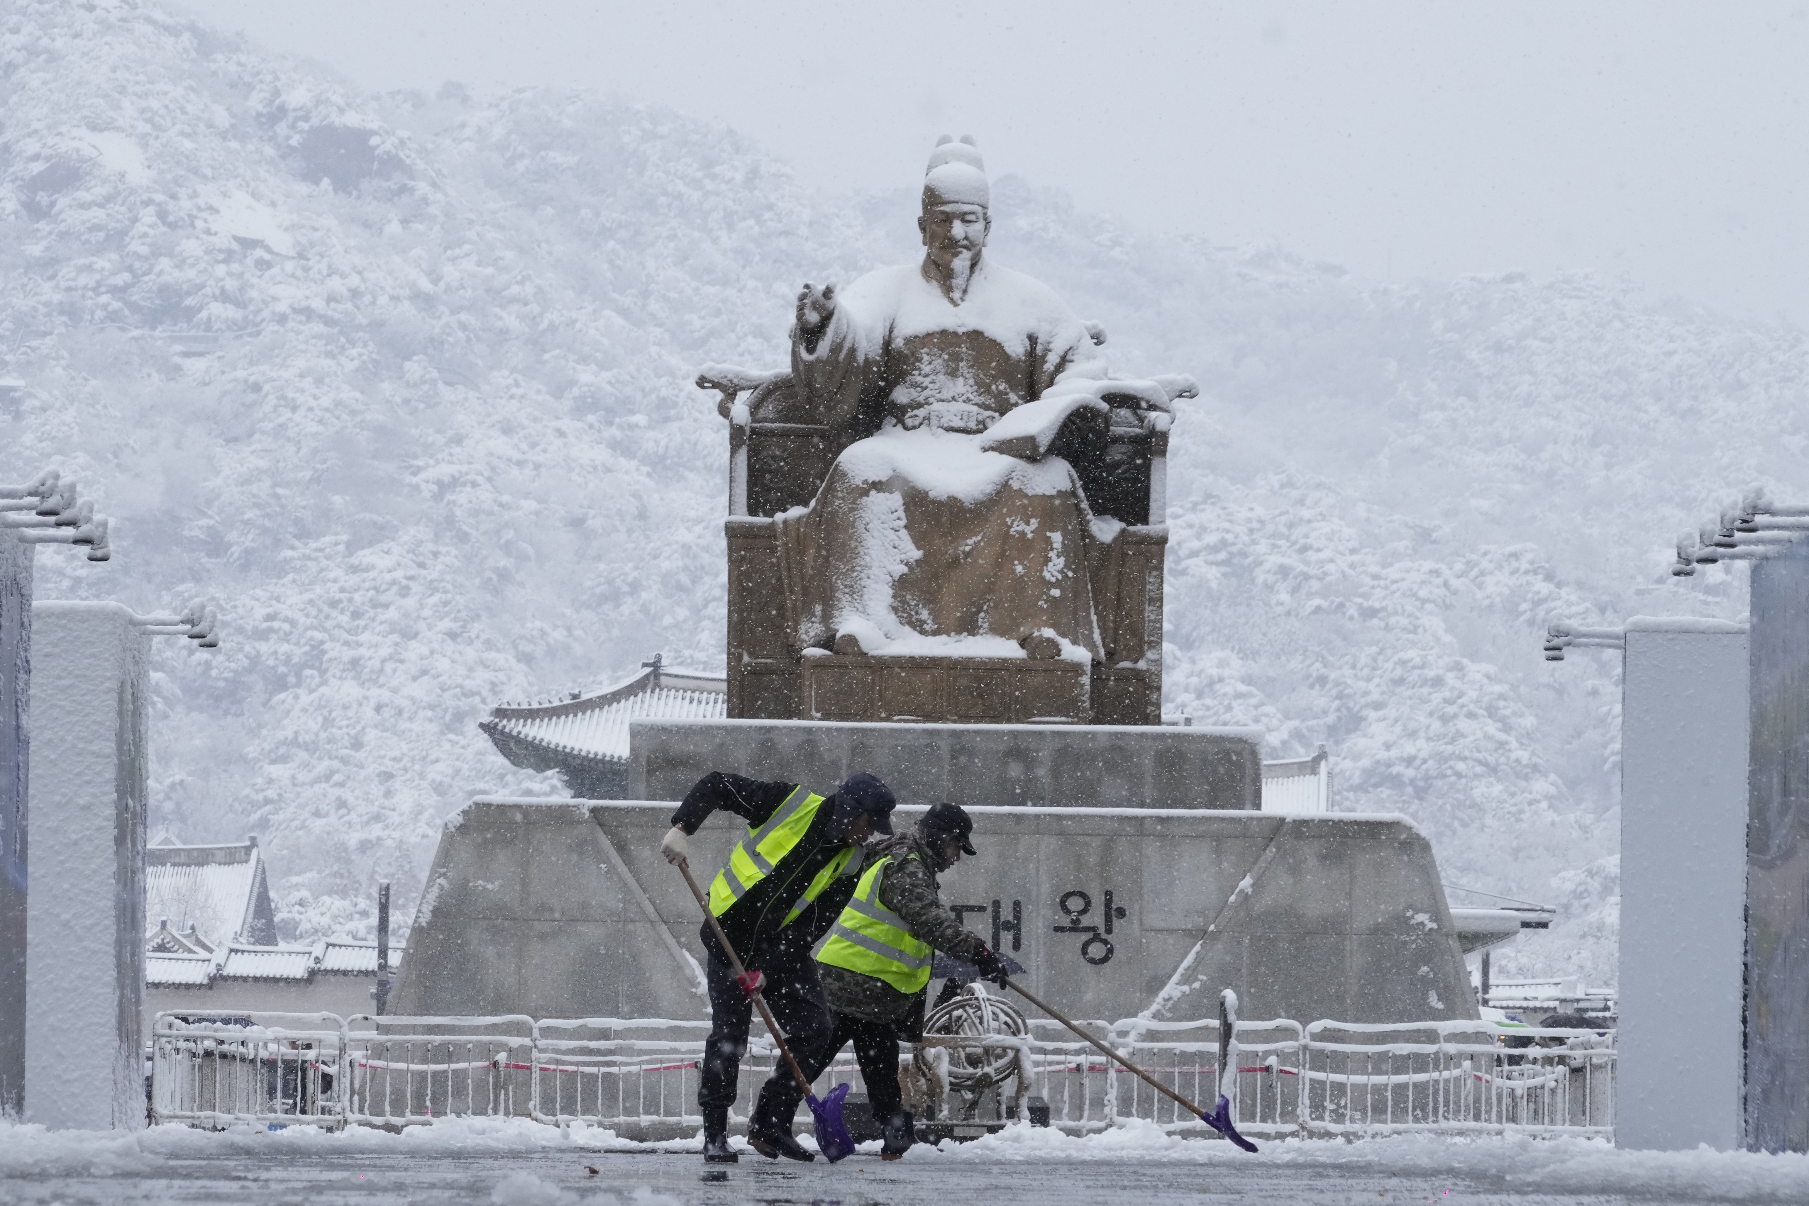
<svg viewBox="0 0 1809 1206">
<path fill-rule="evenodd" d="M 152 5 L 0 2 L 0 477 L 60 465 L 116 519 L 40 597 L 224 622 L 159 651 L 156 823 L 257 832 L 286 935 L 367 929 L 472 792 L 555 790 L 490 703 L 720 662 L 693 369 L 783 363 L 798 282 L 910 257 L 912 204 L 658 108 L 355 96 Z M 1612 978 L 1619 687 L 1539 635 L 1737 613 L 1740 571 L 1675 586 L 1666 541 L 1753 481 L 1809 494 L 1802 334 L 1586 277 L 1380 286 L 1022 181 L 995 212 L 1122 371 L 1201 380 L 1167 709 L 1324 743 L 1339 806 L 1559 904 L 1501 975 Z"/>
</svg>

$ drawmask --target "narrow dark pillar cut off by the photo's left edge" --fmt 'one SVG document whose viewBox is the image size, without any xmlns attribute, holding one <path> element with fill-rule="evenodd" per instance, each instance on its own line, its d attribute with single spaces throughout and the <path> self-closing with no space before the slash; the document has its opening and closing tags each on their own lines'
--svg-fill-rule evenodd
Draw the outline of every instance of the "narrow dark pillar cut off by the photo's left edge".
<svg viewBox="0 0 1809 1206">
<path fill-rule="evenodd" d="M 31 544 L 0 530 L 0 1117 L 25 1108 L 25 703 Z"/>
</svg>

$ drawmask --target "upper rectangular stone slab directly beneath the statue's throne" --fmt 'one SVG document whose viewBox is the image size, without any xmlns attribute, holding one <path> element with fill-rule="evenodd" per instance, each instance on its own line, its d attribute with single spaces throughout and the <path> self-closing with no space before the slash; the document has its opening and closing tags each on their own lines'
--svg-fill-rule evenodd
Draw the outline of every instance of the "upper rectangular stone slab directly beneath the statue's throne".
<svg viewBox="0 0 1809 1206">
<path fill-rule="evenodd" d="M 733 770 L 827 794 L 867 770 L 917 805 L 1259 810 L 1259 741 L 1257 729 L 635 720 L 628 788 L 680 799 L 711 770 Z"/>
</svg>

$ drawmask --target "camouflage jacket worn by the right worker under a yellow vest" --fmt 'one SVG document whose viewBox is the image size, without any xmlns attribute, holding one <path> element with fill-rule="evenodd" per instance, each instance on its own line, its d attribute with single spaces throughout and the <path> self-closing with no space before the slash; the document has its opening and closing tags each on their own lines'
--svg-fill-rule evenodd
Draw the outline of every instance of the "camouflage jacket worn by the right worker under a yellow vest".
<svg viewBox="0 0 1809 1206">
<path fill-rule="evenodd" d="M 908 859 L 912 853 L 917 857 Z M 879 859 L 892 859 L 879 882 L 879 902 L 903 917 L 912 935 L 937 951 L 968 962 L 986 949 L 977 933 L 962 929 L 961 920 L 942 908 L 937 895 L 941 888 L 930 866 L 930 848 L 915 834 L 897 834 L 876 843 L 867 853 L 861 873 L 872 870 Z M 818 971 L 823 973 L 829 1007 L 838 1014 L 899 1023 L 906 1040 L 923 1036 L 923 1003 L 928 989 L 899 993 L 877 976 L 829 964 L 818 964 Z"/>
</svg>

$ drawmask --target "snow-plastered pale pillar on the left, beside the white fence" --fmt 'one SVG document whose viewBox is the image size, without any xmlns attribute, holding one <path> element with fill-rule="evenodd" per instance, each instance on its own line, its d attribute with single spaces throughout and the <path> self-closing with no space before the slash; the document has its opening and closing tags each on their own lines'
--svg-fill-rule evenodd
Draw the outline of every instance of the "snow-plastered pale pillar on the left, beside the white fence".
<svg viewBox="0 0 1809 1206">
<path fill-rule="evenodd" d="M 25 1119 L 145 1125 L 148 636 L 109 602 L 33 608 Z"/>
</svg>

